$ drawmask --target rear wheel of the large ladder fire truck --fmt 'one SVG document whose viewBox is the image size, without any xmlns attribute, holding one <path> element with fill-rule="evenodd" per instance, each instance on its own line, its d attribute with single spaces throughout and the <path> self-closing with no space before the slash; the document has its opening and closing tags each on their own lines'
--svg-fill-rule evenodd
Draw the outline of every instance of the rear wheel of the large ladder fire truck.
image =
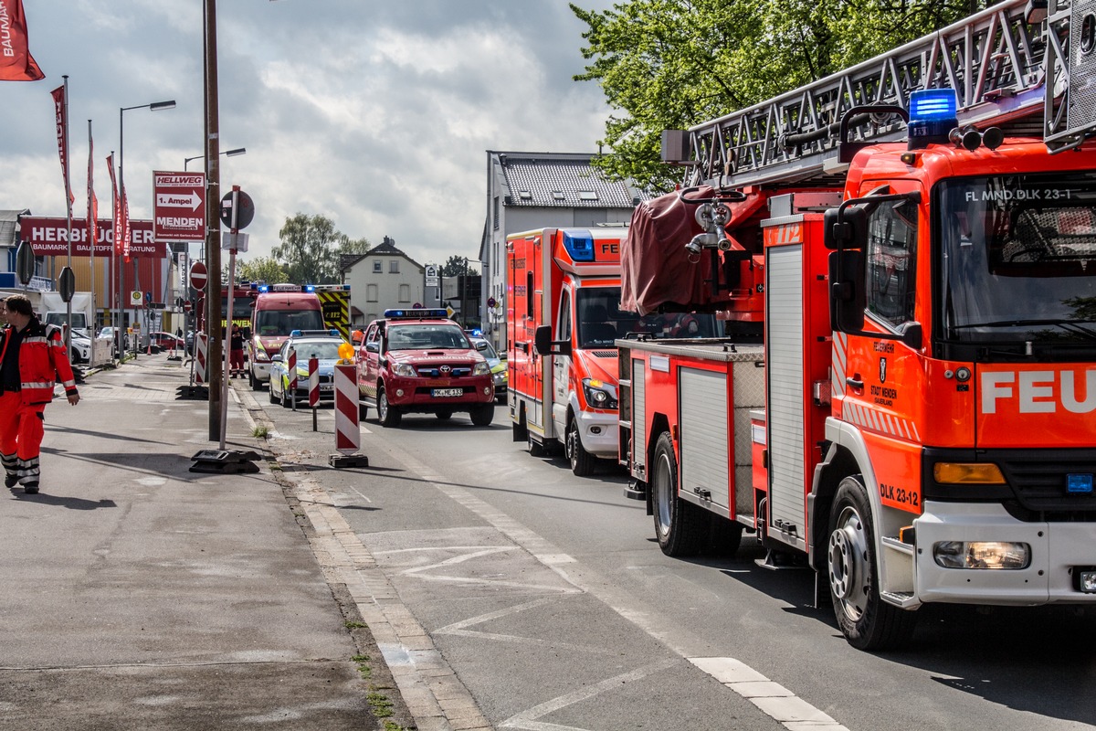
<svg viewBox="0 0 1096 731">
<path fill-rule="evenodd" d="M 669 432 L 663 432 L 654 447 L 651 500 L 654 509 L 654 535 L 666 556 L 696 556 L 707 537 L 704 518 L 696 505 L 677 496 L 677 458 Z"/>
</svg>

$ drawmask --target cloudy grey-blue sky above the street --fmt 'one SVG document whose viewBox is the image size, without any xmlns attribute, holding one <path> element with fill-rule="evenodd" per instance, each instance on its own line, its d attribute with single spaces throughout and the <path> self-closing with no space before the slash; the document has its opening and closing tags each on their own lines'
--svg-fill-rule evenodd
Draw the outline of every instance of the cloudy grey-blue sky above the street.
<svg viewBox="0 0 1096 731">
<path fill-rule="evenodd" d="M 612 0 L 576 0 L 584 9 Z M 73 216 L 95 194 L 125 112 L 130 216 L 152 215 L 152 170 L 203 153 L 203 0 L 23 0 L 46 75 L 0 82 L 0 208 L 65 216 L 50 90 L 69 83 Z M 584 68 L 584 25 L 564 0 L 221 0 L 217 8 L 221 191 L 255 203 L 243 259 L 270 255 L 297 213 L 351 238 L 385 236 L 419 263 L 475 258 L 486 150 L 592 152 L 609 108 Z M 202 160 L 190 163 L 202 169 Z"/>
</svg>

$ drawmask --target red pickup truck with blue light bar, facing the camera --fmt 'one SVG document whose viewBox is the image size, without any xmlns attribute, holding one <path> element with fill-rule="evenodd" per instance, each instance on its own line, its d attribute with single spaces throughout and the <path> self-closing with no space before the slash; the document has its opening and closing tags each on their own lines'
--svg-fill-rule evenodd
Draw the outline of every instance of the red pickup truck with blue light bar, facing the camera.
<svg viewBox="0 0 1096 731">
<path fill-rule="evenodd" d="M 385 310 L 357 343 L 358 411 L 377 410 L 383 426 L 404 413 L 449 419 L 467 411 L 472 423 L 494 419 L 491 366 L 443 309 Z"/>
</svg>

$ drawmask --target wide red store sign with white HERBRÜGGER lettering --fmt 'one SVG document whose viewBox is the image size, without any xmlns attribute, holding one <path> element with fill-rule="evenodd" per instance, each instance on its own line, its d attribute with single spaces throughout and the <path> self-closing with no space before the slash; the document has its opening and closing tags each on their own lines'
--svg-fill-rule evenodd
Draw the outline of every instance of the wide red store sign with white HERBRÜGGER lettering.
<svg viewBox="0 0 1096 731">
<path fill-rule="evenodd" d="M 168 255 L 168 248 L 152 240 L 152 221 L 129 220 L 130 256 Z M 68 254 L 68 221 L 65 218 L 46 218 L 44 216 L 20 216 L 19 238 L 30 241 L 35 256 L 64 256 Z M 114 254 L 114 222 L 110 219 L 95 221 L 95 255 L 111 256 Z M 72 255 L 88 256 L 91 247 L 88 245 L 88 221 L 82 218 L 72 219 Z"/>
</svg>

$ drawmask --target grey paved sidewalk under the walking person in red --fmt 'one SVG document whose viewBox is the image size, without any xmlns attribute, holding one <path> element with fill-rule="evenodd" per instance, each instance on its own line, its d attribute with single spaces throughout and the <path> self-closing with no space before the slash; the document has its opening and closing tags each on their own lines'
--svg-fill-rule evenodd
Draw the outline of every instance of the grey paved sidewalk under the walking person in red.
<svg viewBox="0 0 1096 731">
<path fill-rule="evenodd" d="M 0 493 L 0 729 L 413 728 L 277 471 L 190 471 L 217 443 L 186 373 L 89 374 L 46 409 L 42 492 Z M 230 393 L 228 449 L 252 430 Z"/>
</svg>

